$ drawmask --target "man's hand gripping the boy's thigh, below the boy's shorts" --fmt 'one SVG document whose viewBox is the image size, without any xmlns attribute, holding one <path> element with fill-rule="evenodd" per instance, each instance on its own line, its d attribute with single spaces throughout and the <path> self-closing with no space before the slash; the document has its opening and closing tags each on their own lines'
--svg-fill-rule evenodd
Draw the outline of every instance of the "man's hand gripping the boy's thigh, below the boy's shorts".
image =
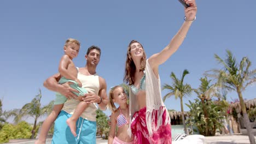
<svg viewBox="0 0 256 144">
<path fill-rule="evenodd" d="M 67 82 L 63 83 L 62 86 L 63 87 L 60 89 L 59 93 L 64 95 L 67 99 L 77 99 L 78 96 L 72 93 L 72 92 L 79 93 L 76 89 L 71 88 Z"/>
</svg>

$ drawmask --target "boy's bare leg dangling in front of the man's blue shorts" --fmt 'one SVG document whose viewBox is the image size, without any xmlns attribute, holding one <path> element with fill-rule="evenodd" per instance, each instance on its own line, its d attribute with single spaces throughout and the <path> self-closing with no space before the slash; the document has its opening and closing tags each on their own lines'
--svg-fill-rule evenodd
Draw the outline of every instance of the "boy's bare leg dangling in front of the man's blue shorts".
<svg viewBox="0 0 256 144">
<path fill-rule="evenodd" d="M 75 122 L 77 122 L 77 119 L 80 117 L 80 115 L 82 115 L 82 113 L 84 112 L 84 110 L 87 108 L 88 104 L 85 101 L 81 101 L 78 105 L 77 108 L 74 111 L 74 114 L 67 119 L 67 125 L 71 130 L 71 133 L 74 136 L 77 136 L 77 133 L 75 133 L 75 131 L 77 131 L 77 127 L 75 125 Z"/>
</svg>

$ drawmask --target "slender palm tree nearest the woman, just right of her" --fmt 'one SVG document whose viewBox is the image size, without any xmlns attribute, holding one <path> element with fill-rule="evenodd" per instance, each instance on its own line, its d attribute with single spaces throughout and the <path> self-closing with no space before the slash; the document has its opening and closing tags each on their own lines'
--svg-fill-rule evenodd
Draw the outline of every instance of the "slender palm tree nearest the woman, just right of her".
<svg viewBox="0 0 256 144">
<path fill-rule="evenodd" d="M 170 75 L 170 77 L 172 79 L 172 86 L 165 84 L 162 87 L 162 90 L 168 89 L 170 91 L 169 93 L 167 93 L 164 96 L 164 99 L 163 99 L 164 101 L 166 100 L 166 98 L 171 97 L 171 95 L 174 95 L 175 99 L 179 98 L 181 100 L 182 122 L 183 122 L 183 126 L 184 126 L 184 131 L 188 135 L 187 127 L 186 127 L 186 124 L 185 124 L 185 118 L 184 118 L 183 97 L 185 95 L 190 95 L 191 92 L 192 92 L 192 88 L 187 83 L 183 84 L 184 77 L 187 74 L 189 74 L 189 71 L 187 69 L 185 69 L 183 71 L 183 74 L 182 74 L 182 79 L 178 80 L 176 75 L 172 72 L 171 75 Z"/>
</svg>

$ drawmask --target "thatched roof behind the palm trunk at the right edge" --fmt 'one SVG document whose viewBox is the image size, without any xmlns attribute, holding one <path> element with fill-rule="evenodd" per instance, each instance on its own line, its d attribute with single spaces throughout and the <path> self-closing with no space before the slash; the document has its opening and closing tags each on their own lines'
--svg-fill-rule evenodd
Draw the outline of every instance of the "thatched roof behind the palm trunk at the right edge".
<svg viewBox="0 0 256 144">
<path fill-rule="evenodd" d="M 254 108 L 256 106 L 256 98 L 251 100 L 246 100 L 245 105 L 246 105 L 246 109 Z M 230 104 L 230 112 L 232 112 L 232 110 L 234 109 L 236 110 L 237 113 L 241 113 L 242 110 L 241 110 L 240 102 Z"/>
</svg>

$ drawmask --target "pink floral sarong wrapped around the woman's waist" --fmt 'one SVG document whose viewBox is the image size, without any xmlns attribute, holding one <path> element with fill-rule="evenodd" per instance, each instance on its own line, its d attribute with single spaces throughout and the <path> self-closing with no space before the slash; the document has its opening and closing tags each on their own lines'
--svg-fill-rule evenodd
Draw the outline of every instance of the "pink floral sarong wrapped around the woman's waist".
<svg viewBox="0 0 256 144">
<path fill-rule="evenodd" d="M 162 115 L 162 125 L 157 131 L 153 131 L 153 135 L 149 136 L 146 122 L 146 107 L 135 112 L 132 118 L 131 130 L 134 136 L 134 143 L 172 143 L 171 124 L 164 125 L 166 119 L 166 110 Z M 155 121 L 157 122 L 157 121 Z"/>
</svg>

